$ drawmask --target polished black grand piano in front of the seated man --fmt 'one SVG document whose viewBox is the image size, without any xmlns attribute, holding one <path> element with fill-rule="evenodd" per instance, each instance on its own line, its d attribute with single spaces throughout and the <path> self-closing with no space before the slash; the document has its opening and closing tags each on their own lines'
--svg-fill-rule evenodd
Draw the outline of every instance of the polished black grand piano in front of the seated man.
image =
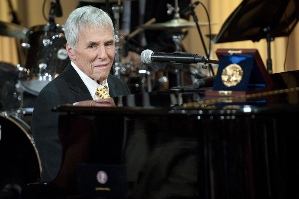
<svg viewBox="0 0 299 199">
<path fill-rule="evenodd" d="M 85 163 L 125 165 L 121 198 L 298 198 L 299 72 L 271 78 L 285 90 L 210 103 L 208 88 L 179 88 L 59 106 L 62 167 L 36 190 L 91 196 L 78 192 Z"/>
</svg>

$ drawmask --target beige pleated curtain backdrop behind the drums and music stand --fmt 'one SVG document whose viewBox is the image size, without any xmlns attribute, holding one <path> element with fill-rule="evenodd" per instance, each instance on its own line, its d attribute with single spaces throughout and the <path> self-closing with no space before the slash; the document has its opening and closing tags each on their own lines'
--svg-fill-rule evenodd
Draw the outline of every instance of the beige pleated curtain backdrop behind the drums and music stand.
<svg viewBox="0 0 299 199">
<path fill-rule="evenodd" d="M 47 0 L 45 6 L 45 14 L 48 17 L 50 2 L 53 0 Z M 180 0 L 179 0 L 180 1 Z M 182 0 L 183 1 L 183 0 Z M 193 2 L 195 0 L 192 0 Z M 212 34 L 217 34 L 230 13 L 240 4 L 241 0 L 202 0 L 202 2 L 208 8 L 211 22 L 215 23 L 212 25 Z M 21 21 L 21 25 L 30 28 L 36 25 L 46 24 L 42 15 L 43 0 L 12 0 L 13 6 L 18 14 Z M 78 5 L 77 0 L 60 0 L 63 9 L 63 17 L 56 17 L 55 22 L 63 24 L 69 13 L 76 8 Z M 0 0 L 0 20 L 10 21 L 11 17 L 8 14 L 8 7 L 6 0 Z M 199 21 L 207 22 L 206 14 L 201 5 L 196 7 L 196 13 Z M 190 18 L 190 20 L 193 20 Z M 208 34 L 208 27 L 201 27 L 202 34 Z M 289 48 L 287 51 L 287 65 L 286 69 L 295 70 L 299 69 L 299 27 L 298 25 L 290 36 Z M 208 40 L 205 38 L 206 46 L 208 47 Z M 282 72 L 283 63 L 286 52 L 286 37 L 275 38 L 275 41 L 271 44 L 272 50 L 272 61 L 273 61 L 273 72 Z M 18 64 L 18 56 L 15 46 L 15 40 L 10 37 L 0 36 L 0 61 L 10 62 L 12 64 Z M 183 45 L 186 50 L 190 53 L 204 54 L 202 44 L 196 28 L 189 30 L 189 34 L 183 40 Z M 267 46 L 264 39 L 259 42 L 242 41 L 242 42 L 231 42 L 224 44 L 212 45 L 211 59 L 217 59 L 215 51 L 218 48 L 257 48 L 262 56 L 263 62 L 266 65 L 267 59 Z"/>
</svg>

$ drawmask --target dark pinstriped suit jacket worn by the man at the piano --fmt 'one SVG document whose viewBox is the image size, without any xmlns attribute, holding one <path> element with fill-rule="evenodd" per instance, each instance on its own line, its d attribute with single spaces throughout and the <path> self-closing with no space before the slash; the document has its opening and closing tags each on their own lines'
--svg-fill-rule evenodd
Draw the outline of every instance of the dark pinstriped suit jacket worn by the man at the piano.
<svg viewBox="0 0 299 199">
<path fill-rule="evenodd" d="M 107 79 L 111 97 L 130 94 L 126 83 L 110 75 Z M 50 182 L 57 176 L 62 158 L 58 137 L 58 113 L 51 109 L 59 104 L 92 100 L 87 87 L 69 63 L 63 73 L 48 83 L 38 95 L 31 121 L 31 131 L 39 152 L 41 181 Z"/>
</svg>

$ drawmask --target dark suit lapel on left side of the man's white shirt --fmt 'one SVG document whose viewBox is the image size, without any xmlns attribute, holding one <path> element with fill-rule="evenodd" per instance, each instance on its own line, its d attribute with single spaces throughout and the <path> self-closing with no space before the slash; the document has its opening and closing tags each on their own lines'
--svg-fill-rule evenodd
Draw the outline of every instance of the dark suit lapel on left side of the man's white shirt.
<svg viewBox="0 0 299 199">
<path fill-rule="evenodd" d="M 69 83 L 69 88 L 74 91 L 74 97 L 77 102 L 93 99 L 88 91 L 88 88 L 85 86 L 71 63 L 69 63 L 65 69 L 65 78 Z"/>
</svg>

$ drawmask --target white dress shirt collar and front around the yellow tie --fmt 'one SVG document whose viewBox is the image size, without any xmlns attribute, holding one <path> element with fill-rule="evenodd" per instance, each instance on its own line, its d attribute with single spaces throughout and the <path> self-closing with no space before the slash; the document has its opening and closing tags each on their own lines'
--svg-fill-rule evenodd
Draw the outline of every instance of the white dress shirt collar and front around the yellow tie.
<svg viewBox="0 0 299 199">
<path fill-rule="evenodd" d="M 100 99 L 100 97 L 97 96 L 96 94 L 96 90 L 97 88 L 100 90 L 101 88 L 103 88 L 104 86 L 107 86 L 107 91 L 109 93 L 109 86 L 108 86 L 108 82 L 107 79 L 105 79 L 101 84 L 98 84 L 95 80 L 93 80 L 92 78 L 88 77 L 85 73 L 83 73 L 77 66 L 76 64 L 74 64 L 74 62 L 71 62 L 72 66 L 74 67 L 74 69 L 77 71 L 77 73 L 79 74 L 80 78 L 82 79 L 83 83 L 85 84 L 85 86 L 87 87 L 90 95 L 93 97 L 93 100 L 97 100 Z"/>
</svg>

